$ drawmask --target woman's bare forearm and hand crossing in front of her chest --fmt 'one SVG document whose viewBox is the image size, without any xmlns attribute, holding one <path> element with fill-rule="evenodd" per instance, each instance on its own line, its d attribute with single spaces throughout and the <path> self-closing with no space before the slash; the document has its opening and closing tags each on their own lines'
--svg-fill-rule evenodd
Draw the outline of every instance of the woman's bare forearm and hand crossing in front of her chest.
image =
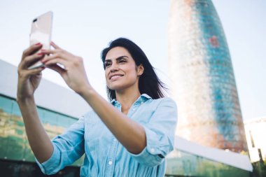
<svg viewBox="0 0 266 177">
<path fill-rule="evenodd" d="M 72 55 L 51 43 L 55 50 L 42 50 L 50 55 L 42 60 L 45 66 L 57 71 L 72 90 L 80 94 L 99 115 L 116 139 L 131 153 L 141 153 L 146 147 L 144 127 L 121 113 L 100 96 L 90 85 L 85 73 L 83 59 Z M 58 66 L 61 64 L 64 68 Z"/>
</svg>

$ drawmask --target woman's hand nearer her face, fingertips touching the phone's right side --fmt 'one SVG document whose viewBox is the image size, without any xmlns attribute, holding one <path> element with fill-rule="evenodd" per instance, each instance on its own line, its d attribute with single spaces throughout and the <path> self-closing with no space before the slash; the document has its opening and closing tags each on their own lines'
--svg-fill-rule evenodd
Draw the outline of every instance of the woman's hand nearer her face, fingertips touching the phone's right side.
<svg viewBox="0 0 266 177">
<path fill-rule="evenodd" d="M 55 48 L 54 50 L 41 50 L 44 54 L 50 55 L 41 62 L 45 64 L 45 67 L 57 71 L 72 90 L 82 94 L 83 91 L 90 87 L 83 59 L 66 52 L 66 50 L 62 50 L 55 43 L 51 43 L 51 45 Z"/>
</svg>

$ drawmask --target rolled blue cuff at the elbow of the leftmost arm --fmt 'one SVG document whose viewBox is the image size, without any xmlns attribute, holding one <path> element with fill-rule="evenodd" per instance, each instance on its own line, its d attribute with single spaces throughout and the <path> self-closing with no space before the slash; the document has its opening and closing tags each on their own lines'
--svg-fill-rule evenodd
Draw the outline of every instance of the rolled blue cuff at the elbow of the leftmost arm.
<svg viewBox="0 0 266 177">
<path fill-rule="evenodd" d="M 38 160 L 35 158 L 36 163 L 38 164 L 38 167 L 40 167 L 43 174 L 56 174 L 57 171 L 59 171 L 59 157 L 60 153 L 55 144 L 52 144 L 54 147 L 54 150 L 52 152 L 52 156 L 50 159 L 46 160 L 43 163 L 38 162 Z"/>
</svg>

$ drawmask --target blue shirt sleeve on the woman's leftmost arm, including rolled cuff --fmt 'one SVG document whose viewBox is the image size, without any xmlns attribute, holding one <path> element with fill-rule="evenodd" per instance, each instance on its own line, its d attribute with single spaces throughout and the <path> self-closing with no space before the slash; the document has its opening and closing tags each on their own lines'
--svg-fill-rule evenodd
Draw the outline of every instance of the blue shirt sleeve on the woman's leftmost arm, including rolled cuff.
<svg viewBox="0 0 266 177">
<path fill-rule="evenodd" d="M 84 153 L 84 117 L 66 129 L 64 134 L 52 139 L 52 156 L 43 163 L 36 160 L 43 174 L 55 174 L 73 164 Z"/>
</svg>

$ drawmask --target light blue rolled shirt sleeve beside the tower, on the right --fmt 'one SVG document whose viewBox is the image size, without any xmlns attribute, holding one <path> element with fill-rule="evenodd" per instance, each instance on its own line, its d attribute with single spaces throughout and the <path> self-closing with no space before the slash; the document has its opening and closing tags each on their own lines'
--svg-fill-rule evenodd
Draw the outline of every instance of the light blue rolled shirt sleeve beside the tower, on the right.
<svg viewBox="0 0 266 177">
<path fill-rule="evenodd" d="M 177 108 L 170 98 L 163 99 L 150 122 L 143 125 L 147 146 L 141 153 L 132 154 L 139 163 L 155 167 L 165 160 L 165 156 L 174 150 L 174 134 L 177 122 Z"/>
</svg>

